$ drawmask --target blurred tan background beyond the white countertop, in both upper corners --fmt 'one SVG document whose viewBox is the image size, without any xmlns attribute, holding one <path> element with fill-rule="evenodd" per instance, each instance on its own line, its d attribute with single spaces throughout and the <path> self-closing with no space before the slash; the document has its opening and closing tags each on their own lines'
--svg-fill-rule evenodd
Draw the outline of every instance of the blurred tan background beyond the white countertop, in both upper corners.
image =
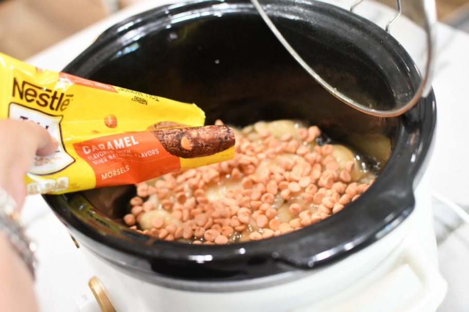
<svg viewBox="0 0 469 312">
<path fill-rule="evenodd" d="M 28 57 L 142 0 L 0 0 L 0 51 Z M 468 0 L 436 0 L 438 20 L 469 32 Z"/>
</svg>

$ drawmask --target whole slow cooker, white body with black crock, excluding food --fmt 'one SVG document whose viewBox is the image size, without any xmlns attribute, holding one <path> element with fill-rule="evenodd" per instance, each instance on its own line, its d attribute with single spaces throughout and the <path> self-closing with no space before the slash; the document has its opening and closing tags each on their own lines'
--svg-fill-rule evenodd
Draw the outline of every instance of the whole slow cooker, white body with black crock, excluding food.
<svg viewBox="0 0 469 312">
<path fill-rule="evenodd" d="M 274 1 L 272 18 L 311 49 L 310 61 L 331 80 L 374 103 L 388 103 L 403 89 L 413 94 L 418 70 L 392 36 L 349 11 L 308 3 L 304 19 L 288 2 Z M 207 124 L 305 120 L 379 170 L 363 196 L 328 219 L 220 246 L 155 240 L 128 229 L 121 219 L 133 185 L 45 195 L 117 311 L 332 311 L 374 304 L 436 310 L 443 300 L 424 178 L 436 124 L 432 92 L 397 117 L 356 111 L 315 83 L 245 0 L 140 13 L 106 30 L 63 71 L 196 103 Z M 405 285 L 376 288 L 390 274 L 407 277 Z"/>
</svg>

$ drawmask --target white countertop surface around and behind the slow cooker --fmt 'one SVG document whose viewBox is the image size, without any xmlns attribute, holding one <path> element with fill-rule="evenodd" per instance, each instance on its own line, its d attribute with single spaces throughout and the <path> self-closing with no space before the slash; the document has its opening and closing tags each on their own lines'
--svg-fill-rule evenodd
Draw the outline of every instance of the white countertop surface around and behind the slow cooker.
<svg viewBox="0 0 469 312">
<path fill-rule="evenodd" d="M 172 1 L 176 2 L 176 1 Z M 131 6 L 104 19 L 103 21 L 67 38 L 63 42 L 31 57 L 28 63 L 37 67 L 60 71 L 106 28 L 124 17 L 151 7 L 171 3 L 166 0 L 151 0 Z M 437 27 L 438 49 L 435 75 L 432 86 L 436 94 L 438 126 L 435 148 L 428 167 L 430 186 L 434 191 L 463 206 L 469 206 L 466 196 L 469 187 L 469 166 L 465 165 L 469 146 L 465 143 L 469 134 L 469 87 L 465 74 L 469 72 L 469 35 L 443 24 Z M 443 214 L 445 208 L 442 208 Z M 76 301 L 80 297 L 93 272 L 86 265 L 83 256 L 70 239 L 66 228 L 59 222 L 40 196 L 27 199 L 23 218 L 29 235 L 38 244 L 39 267 L 37 270 L 37 293 L 42 311 L 77 311 Z M 460 224 L 460 223 L 459 223 Z M 449 269 L 465 264 L 469 272 L 469 227 L 459 228 L 458 241 L 445 241 L 440 252 L 442 272 L 448 278 L 467 281 L 467 274 L 455 274 Z M 462 240 L 462 243 L 460 242 Z M 449 247 L 448 247 L 449 246 Z M 59 248 L 58 248 L 59 247 Z M 461 248 L 461 250 L 454 250 Z M 448 256 L 450 255 L 450 256 Z M 464 258 L 465 257 L 465 258 Z M 468 261 L 465 261 L 467 259 Z M 444 263 L 443 263 L 444 262 Z M 445 266 L 446 263 L 450 266 Z M 449 280 L 448 300 L 457 301 L 459 286 L 452 286 Z M 464 288 L 462 288 L 464 289 Z M 467 287 L 465 288 L 467 290 Z M 466 291 L 467 294 L 467 291 Z M 467 296 L 465 296 L 467 297 Z M 460 311 L 446 300 L 441 311 Z M 469 306 L 467 299 L 462 304 Z M 461 303 L 459 303 L 460 306 Z M 462 311 L 462 310 L 461 310 Z"/>
</svg>

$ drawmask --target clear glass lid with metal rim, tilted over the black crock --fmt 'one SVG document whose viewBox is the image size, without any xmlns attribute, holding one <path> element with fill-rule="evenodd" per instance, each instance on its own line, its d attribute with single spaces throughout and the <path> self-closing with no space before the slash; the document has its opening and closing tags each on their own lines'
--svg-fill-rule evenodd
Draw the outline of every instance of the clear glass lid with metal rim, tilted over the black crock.
<svg viewBox="0 0 469 312">
<path fill-rule="evenodd" d="M 364 113 L 372 114 L 375 116 L 389 117 L 400 115 L 411 107 L 413 107 L 422 96 L 427 96 L 431 89 L 431 72 L 432 66 L 434 65 L 436 49 L 435 45 L 435 27 L 436 27 L 436 8 L 435 3 L 431 0 L 412 0 L 410 5 L 405 4 L 406 11 L 410 9 L 410 15 L 408 12 L 404 17 L 404 12 L 402 10 L 401 0 L 397 0 L 397 8 L 394 12 L 393 9 L 381 4 L 378 0 L 376 6 L 381 4 L 381 11 L 387 13 L 394 13 L 392 18 L 389 19 L 386 25 L 386 32 L 391 33 L 391 26 L 399 18 L 409 19 L 412 18 L 412 23 L 408 23 L 407 31 L 411 32 L 413 36 L 419 38 L 424 34 L 425 46 L 423 47 L 423 52 L 425 55 L 425 63 L 419 64 L 419 71 L 422 76 L 419 77 L 419 84 L 414 90 L 409 90 L 405 83 L 402 83 L 399 79 L 390 79 L 388 80 L 390 88 L 393 90 L 392 97 L 386 99 L 386 101 L 372 101 L 370 97 L 364 97 L 364 93 L 369 93 L 367 90 L 357 90 L 355 88 L 348 88 L 342 83 L 341 80 L 337 80 L 336 77 L 331 76 L 327 68 L 324 68 L 321 62 L 316 60 L 316 55 L 314 52 L 311 52 L 309 44 L 297 40 L 296 29 L 285 27 L 283 25 L 282 16 L 290 15 L 301 16 L 301 19 L 308 21 L 310 26 L 313 26 L 317 23 L 317 16 L 311 11 L 315 10 L 310 4 L 310 2 L 296 1 L 296 0 L 251 0 L 259 14 L 264 19 L 266 25 L 272 30 L 276 35 L 278 40 L 284 45 L 288 52 L 292 54 L 294 59 L 300 64 L 306 72 L 308 72 L 313 79 L 315 79 L 321 86 L 326 88 L 331 94 L 338 97 L 344 103 L 358 109 Z M 328 1 L 331 5 L 340 6 L 340 2 L 337 1 Z M 354 15 L 354 9 L 362 1 L 357 1 L 350 4 L 350 15 Z M 386 3 L 387 4 L 387 3 Z M 342 4 L 343 5 L 343 4 Z M 369 9 L 372 9 L 369 8 Z M 341 24 L 336 24 L 335 27 L 342 29 L 344 33 L 347 32 L 346 28 L 351 25 L 348 23 L 348 20 L 345 19 Z M 410 19 L 409 21 L 410 22 Z M 353 25 L 355 26 L 355 25 Z M 314 30 L 312 30 L 314 32 Z M 419 42 L 419 41 L 417 41 Z M 358 43 L 359 44 L 359 43 Z M 373 57 L 373 54 L 370 54 Z M 373 62 L 384 67 L 386 72 L 389 72 L 389 76 L 393 77 L 393 71 L 396 68 L 389 66 L 390 62 L 376 57 L 373 59 Z M 359 64 L 350 64 L 351 72 L 354 72 L 354 67 L 360 66 Z M 365 65 L 362 65 L 365 66 Z M 354 72 L 359 74 L 359 69 Z M 395 78 L 399 77 L 400 74 L 395 75 Z M 365 88 L 372 88 L 372 86 L 364 86 Z"/>
</svg>

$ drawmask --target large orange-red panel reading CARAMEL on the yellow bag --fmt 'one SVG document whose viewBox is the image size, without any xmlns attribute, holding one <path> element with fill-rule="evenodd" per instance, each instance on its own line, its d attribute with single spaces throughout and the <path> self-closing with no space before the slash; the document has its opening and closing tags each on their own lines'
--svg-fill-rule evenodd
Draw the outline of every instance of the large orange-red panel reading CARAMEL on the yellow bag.
<svg viewBox="0 0 469 312">
<path fill-rule="evenodd" d="M 106 135 L 74 148 L 95 171 L 96 187 L 139 183 L 181 169 L 179 157 L 150 131 Z"/>
</svg>

